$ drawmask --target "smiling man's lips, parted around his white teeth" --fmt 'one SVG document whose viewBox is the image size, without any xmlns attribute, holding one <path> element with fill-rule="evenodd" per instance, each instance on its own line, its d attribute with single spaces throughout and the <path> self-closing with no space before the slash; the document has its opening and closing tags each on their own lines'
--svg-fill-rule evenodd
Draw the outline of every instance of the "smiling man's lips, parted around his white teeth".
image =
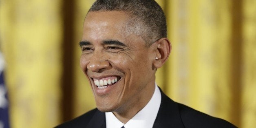
<svg viewBox="0 0 256 128">
<path fill-rule="evenodd" d="M 111 86 L 107 86 L 106 88 L 98 88 L 97 85 L 95 85 L 94 83 L 94 80 L 93 79 L 102 79 L 102 78 L 106 78 L 106 77 L 117 77 L 119 78 L 119 80 L 117 82 L 115 82 L 115 84 L 111 85 Z M 111 92 L 111 90 L 115 89 L 117 87 L 117 85 L 119 84 L 119 81 L 121 80 L 121 77 L 120 76 L 117 76 L 117 75 L 108 75 L 108 76 L 93 76 L 93 77 L 90 77 L 90 81 L 91 81 L 91 84 L 93 86 L 93 90 L 94 90 L 94 93 L 96 95 L 106 95 L 108 94 L 109 92 Z"/>
</svg>

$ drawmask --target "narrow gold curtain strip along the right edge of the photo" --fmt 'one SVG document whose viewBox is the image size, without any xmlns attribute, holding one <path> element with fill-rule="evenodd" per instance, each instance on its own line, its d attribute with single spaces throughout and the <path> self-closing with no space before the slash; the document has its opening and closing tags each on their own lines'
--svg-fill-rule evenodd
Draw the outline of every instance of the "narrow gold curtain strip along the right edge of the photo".
<svg viewBox="0 0 256 128">
<path fill-rule="evenodd" d="M 241 128 L 256 126 L 256 0 L 244 0 L 242 25 Z"/>
</svg>

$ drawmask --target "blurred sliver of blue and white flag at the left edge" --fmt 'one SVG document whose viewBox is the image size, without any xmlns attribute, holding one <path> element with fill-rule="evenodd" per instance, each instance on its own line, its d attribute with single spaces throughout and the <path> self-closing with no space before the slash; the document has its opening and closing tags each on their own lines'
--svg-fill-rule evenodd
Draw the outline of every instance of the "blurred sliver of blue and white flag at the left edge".
<svg viewBox="0 0 256 128">
<path fill-rule="evenodd" d="M 4 58 L 0 53 L 0 128 L 9 128 L 7 89 L 4 85 Z"/>
</svg>

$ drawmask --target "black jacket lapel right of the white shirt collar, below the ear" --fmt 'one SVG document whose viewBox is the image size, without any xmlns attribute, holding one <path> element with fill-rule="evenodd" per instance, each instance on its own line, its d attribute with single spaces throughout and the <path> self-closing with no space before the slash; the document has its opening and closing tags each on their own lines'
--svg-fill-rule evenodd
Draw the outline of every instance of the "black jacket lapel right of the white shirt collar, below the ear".
<svg viewBox="0 0 256 128">
<path fill-rule="evenodd" d="M 160 88 L 159 88 L 160 89 Z M 153 128 L 185 128 L 178 105 L 161 91 L 161 104 Z"/>
</svg>

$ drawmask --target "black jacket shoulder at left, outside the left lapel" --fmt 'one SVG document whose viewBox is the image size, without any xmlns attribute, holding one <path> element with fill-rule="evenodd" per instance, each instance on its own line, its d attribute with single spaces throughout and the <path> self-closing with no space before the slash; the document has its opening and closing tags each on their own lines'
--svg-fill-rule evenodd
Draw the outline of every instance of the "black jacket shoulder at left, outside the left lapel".
<svg viewBox="0 0 256 128">
<path fill-rule="evenodd" d="M 97 108 L 90 110 L 89 112 L 76 117 L 70 121 L 67 121 L 55 128 L 83 128 L 88 125 L 90 120 L 95 116 L 96 113 L 101 113 Z"/>
</svg>

